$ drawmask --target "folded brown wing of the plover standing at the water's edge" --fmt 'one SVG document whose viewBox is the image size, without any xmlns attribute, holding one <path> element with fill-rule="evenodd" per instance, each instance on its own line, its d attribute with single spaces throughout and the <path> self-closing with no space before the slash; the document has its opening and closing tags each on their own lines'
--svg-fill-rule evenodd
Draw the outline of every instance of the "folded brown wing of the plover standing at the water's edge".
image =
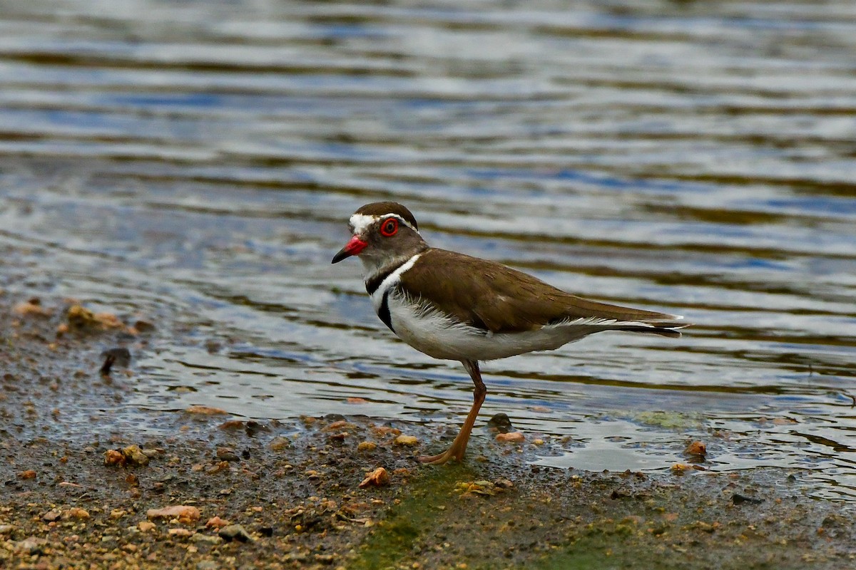
<svg viewBox="0 0 856 570">
<path fill-rule="evenodd" d="M 638 332 L 669 336 L 679 336 L 671 329 L 686 326 L 676 323 L 672 314 L 589 301 L 501 263 L 447 250 L 425 251 L 419 263 L 401 275 L 401 288 L 461 322 L 491 332 L 531 331 L 580 318 L 642 322 L 656 329 Z"/>
</svg>

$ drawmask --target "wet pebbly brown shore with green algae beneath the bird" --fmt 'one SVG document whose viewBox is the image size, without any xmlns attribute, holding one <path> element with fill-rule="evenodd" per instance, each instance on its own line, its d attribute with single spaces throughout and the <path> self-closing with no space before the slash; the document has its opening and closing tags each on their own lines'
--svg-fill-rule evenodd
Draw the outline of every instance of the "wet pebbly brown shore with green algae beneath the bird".
<svg viewBox="0 0 856 570">
<path fill-rule="evenodd" d="M 175 333 L 26 301 L 0 292 L 0 567 L 856 567 L 852 510 L 783 470 L 566 471 L 529 464 L 557 442 L 487 438 L 425 467 L 456 426 L 114 415 L 134 362 L 102 351 Z"/>
</svg>

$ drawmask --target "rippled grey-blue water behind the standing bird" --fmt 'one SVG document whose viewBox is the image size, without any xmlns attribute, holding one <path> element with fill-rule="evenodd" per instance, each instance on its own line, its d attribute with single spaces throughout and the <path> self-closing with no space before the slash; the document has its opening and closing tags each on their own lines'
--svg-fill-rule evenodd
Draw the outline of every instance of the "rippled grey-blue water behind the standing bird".
<svg viewBox="0 0 856 570">
<path fill-rule="evenodd" d="M 483 420 L 573 438 L 545 463 L 702 438 L 856 498 L 856 4 L 467 6 L 4 2 L 5 285 L 192 331 L 132 409 L 455 425 L 462 367 L 330 266 L 395 199 L 432 244 L 698 323 L 486 364 Z"/>
</svg>

